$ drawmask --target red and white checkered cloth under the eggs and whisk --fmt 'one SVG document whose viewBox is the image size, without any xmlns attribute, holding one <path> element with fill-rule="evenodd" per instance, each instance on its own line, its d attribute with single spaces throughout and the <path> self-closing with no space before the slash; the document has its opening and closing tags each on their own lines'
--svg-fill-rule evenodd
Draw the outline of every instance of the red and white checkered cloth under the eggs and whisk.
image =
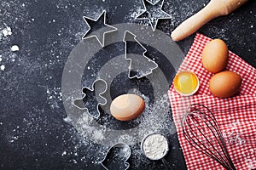
<svg viewBox="0 0 256 170">
<path fill-rule="evenodd" d="M 232 98 L 213 97 L 208 83 L 213 76 L 201 64 L 203 48 L 211 38 L 197 34 L 189 53 L 178 71 L 193 71 L 200 81 L 196 94 L 183 97 L 175 91 L 173 84 L 168 91 L 172 116 L 177 135 L 189 169 L 224 169 L 217 161 L 195 150 L 184 138 L 181 118 L 191 104 L 206 105 L 214 114 L 224 135 L 227 149 L 236 169 L 256 168 L 256 71 L 236 54 L 230 52 L 226 70 L 235 71 L 242 78 L 238 94 Z"/>
</svg>

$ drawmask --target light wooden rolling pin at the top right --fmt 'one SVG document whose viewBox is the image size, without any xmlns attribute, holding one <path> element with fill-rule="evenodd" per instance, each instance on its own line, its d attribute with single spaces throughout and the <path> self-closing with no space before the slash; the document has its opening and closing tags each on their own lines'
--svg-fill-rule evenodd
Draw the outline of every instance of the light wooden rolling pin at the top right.
<svg viewBox="0 0 256 170">
<path fill-rule="evenodd" d="M 211 0 L 205 8 L 183 21 L 180 26 L 172 31 L 171 37 L 174 41 L 189 37 L 195 31 L 207 24 L 208 21 L 222 15 L 230 14 L 247 0 Z"/>
</svg>

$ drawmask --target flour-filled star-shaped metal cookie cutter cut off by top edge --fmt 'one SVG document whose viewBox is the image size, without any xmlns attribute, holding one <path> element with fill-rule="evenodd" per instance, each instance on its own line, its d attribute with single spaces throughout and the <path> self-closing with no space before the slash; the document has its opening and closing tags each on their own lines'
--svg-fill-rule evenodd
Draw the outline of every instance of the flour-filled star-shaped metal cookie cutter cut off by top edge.
<svg viewBox="0 0 256 170">
<path fill-rule="evenodd" d="M 160 3 L 162 1 L 162 3 Z M 136 20 L 149 20 L 149 24 L 152 27 L 152 30 L 155 31 L 158 20 L 160 19 L 171 19 L 171 15 L 167 14 L 162 10 L 164 0 L 160 0 L 156 3 L 150 3 L 148 0 L 143 0 L 144 11 L 142 14 L 139 14 L 136 17 Z M 148 8 L 149 7 L 149 8 Z M 156 8 L 156 10 L 152 10 L 152 8 Z M 152 11 L 150 11 L 150 9 Z M 159 13 L 159 14 L 158 14 Z M 147 17 L 144 17 L 143 14 L 147 14 Z"/>
</svg>

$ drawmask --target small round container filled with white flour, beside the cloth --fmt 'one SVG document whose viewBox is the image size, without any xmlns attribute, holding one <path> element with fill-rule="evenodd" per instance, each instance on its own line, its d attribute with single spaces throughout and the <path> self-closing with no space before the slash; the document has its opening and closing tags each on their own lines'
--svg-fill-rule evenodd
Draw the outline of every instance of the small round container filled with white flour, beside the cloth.
<svg viewBox="0 0 256 170">
<path fill-rule="evenodd" d="M 161 159 L 166 155 L 167 150 L 167 139 L 159 133 L 151 134 L 143 141 L 143 151 L 145 156 L 151 160 Z"/>
</svg>

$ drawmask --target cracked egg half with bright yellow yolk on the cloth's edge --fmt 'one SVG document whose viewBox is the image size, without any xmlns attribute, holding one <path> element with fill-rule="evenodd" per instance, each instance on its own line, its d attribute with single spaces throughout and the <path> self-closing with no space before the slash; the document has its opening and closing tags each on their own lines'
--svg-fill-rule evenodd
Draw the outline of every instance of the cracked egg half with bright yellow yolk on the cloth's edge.
<svg viewBox="0 0 256 170">
<path fill-rule="evenodd" d="M 198 80 L 192 72 L 183 71 L 177 73 L 174 78 L 174 86 L 182 94 L 191 94 L 197 88 Z"/>
</svg>

